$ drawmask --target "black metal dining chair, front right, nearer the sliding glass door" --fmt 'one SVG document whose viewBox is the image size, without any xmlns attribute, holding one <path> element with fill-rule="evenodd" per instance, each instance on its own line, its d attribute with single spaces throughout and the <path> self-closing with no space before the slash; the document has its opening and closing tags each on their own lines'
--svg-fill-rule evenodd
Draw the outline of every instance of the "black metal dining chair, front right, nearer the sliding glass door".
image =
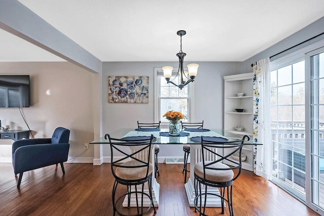
<svg viewBox="0 0 324 216">
<path fill-rule="evenodd" d="M 228 204 L 228 210 L 230 216 L 234 215 L 233 211 L 233 200 L 232 200 L 232 186 L 234 180 L 238 178 L 242 167 L 242 147 L 247 138 L 245 135 L 241 140 L 235 141 L 206 141 L 204 137 L 201 136 L 201 154 L 202 161 L 194 165 L 194 187 L 195 187 L 195 198 L 194 206 L 195 212 L 199 212 L 200 215 L 206 215 L 206 200 L 207 196 L 218 196 L 221 198 L 222 214 L 224 214 L 224 201 Z M 219 150 L 220 153 L 215 151 L 215 148 Z M 230 152 L 226 155 L 222 154 L 223 149 L 228 149 Z M 238 160 L 232 157 L 232 154 L 238 154 Z M 211 156 L 213 155 L 213 156 Z M 216 158 L 214 161 L 209 160 L 209 158 Z M 237 159 L 237 158 L 236 158 Z M 226 163 L 226 164 L 225 164 Z M 227 164 L 230 164 L 228 166 Z M 204 191 L 201 191 L 201 185 L 205 186 Z M 214 187 L 220 189 L 220 194 L 209 193 L 207 187 Z M 225 198 L 225 190 L 227 191 L 227 198 Z M 204 198 L 203 198 L 204 197 Z M 202 200 L 204 199 L 204 204 Z M 199 200 L 199 206 L 198 206 Z M 201 208 L 204 208 L 203 211 Z"/>
</svg>

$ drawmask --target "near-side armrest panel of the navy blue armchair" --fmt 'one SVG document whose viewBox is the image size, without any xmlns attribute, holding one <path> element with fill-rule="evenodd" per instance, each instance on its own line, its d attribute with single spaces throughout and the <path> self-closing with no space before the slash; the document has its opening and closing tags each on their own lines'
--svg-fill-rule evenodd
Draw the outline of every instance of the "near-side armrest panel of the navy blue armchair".
<svg viewBox="0 0 324 216">
<path fill-rule="evenodd" d="M 13 154 L 15 174 L 67 161 L 68 143 L 21 146 Z"/>
</svg>

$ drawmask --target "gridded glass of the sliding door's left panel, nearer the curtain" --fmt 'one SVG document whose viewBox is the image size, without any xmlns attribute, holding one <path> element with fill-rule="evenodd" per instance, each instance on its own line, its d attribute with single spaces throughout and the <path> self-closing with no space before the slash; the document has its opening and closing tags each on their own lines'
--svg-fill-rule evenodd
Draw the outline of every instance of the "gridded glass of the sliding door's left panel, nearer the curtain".
<svg viewBox="0 0 324 216">
<path fill-rule="evenodd" d="M 271 70 L 271 125 L 273 176 L 305 197 L 304 60 Z"/>
</svg>

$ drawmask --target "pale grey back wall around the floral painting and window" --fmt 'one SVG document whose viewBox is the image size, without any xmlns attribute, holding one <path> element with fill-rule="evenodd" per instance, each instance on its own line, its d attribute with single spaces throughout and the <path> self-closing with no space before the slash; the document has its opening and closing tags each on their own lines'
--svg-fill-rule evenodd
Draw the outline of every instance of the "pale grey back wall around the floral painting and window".
<svg viewBox="0 0 324 216">
<path fill-rule="evenodd" d="M 189 62 L 186 62 L 186 64 Z M 251 72 L 241 71 L 240 62 L 196 62 L 199 64 L 194 82 L 193 118 L 204 120 L 206 128 L 223 127 L 223 76 Z M 154 121 L 154 68 L 166 65 L 178 67 L 178 62 L 104 62 L 102 69 L 102 132 L 119 128 L 137 128 L 137 120 Z M 252 70 L 252 68 L 251 68 Z M 136 75 L 149 76 L 148 104 L 113 104 L 107 100 L 108 76 Z M 252 84 L 252 83 L 251 83 Z M 108 146 L 104 146 L 103 156 L 110 156 Z M 182 146 L 160 145 L 159 157 L 182 157 Z"/>
</svg>

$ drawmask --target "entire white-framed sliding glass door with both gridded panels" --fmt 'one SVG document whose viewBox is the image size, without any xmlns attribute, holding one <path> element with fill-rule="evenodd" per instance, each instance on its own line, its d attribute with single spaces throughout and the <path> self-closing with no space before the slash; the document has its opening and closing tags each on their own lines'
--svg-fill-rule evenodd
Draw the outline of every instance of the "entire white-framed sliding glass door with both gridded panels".
<svg viewBox="0 0 324 216">
<path fill-rule="evenodd" d="M 324 215 L 324 41 L 273 60 L 272 181 Z"/>
</svg>

